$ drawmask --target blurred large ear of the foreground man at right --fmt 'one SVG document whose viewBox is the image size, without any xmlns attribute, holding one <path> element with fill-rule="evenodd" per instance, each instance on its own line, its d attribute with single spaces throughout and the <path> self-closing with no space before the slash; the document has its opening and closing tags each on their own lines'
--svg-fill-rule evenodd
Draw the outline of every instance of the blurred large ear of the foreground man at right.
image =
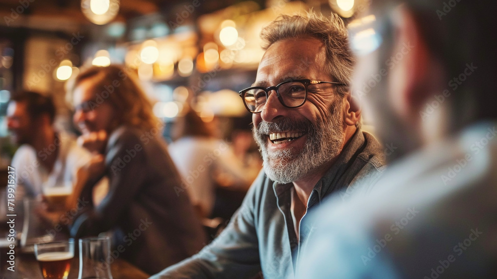
<svg viewBox="0 0 497 279">
<path fill-rule="evenodd" d="M 390 100 L 396 112 L 407 119 L 419 117 L 421 107 L 432 96 L 433 61 L 414 14 L 398 7 L 392 16 L 393 52 L 389 65 Z M 388 61 L 388 60 L 387 60 Z"/>
</svg>

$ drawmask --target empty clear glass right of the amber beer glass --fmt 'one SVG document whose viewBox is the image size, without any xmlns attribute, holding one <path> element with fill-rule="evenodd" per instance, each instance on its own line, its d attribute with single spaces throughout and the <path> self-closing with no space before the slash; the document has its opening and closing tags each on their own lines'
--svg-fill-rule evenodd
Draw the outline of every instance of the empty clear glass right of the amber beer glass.
<svg viewBox="0 0 497 279">
<path fill-rule="evenodd" d="M 78 279 L 112 279 L 108 237 L 80 239 L 80 274 Z"/>
</svg>

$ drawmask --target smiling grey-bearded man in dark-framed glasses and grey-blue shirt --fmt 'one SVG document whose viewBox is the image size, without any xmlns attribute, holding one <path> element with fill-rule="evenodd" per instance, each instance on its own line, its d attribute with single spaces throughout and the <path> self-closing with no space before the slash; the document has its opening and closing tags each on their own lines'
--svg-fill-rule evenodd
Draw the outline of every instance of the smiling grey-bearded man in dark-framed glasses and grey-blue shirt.
<svg viewBox="0 0 497 279">
<path fill-rule="evenodd" d="M 348 84 L 353 58 L 336 14 L 281 16 L 262 30 L 254 87 L 241 91 L 263 158 L 227 228 L 154 279 L 294 277 L 306 213 L 332 192 L 381 174 L 383 150 L 361 131 Z"/>
</svg>

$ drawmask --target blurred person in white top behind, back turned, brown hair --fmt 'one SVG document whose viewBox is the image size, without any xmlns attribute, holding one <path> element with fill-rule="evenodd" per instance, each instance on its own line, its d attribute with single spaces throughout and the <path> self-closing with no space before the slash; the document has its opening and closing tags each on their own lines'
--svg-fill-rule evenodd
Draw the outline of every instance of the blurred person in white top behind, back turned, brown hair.
<svg viewBox="0 0 497 279">
<path fill-rule="evenodd" d="M 255 179 L 257 173 L 248 173 L 231 146 L 215 138 L 211 126 L 194 110 L 177 118 L 171 134 L 174 142 L 169 144 L 169 154 L 182 175 L 176 191 L 188 192 L 201 217 L 211 216 L 221 175 L 223 184 L 244 189 Z"/>
</svg>

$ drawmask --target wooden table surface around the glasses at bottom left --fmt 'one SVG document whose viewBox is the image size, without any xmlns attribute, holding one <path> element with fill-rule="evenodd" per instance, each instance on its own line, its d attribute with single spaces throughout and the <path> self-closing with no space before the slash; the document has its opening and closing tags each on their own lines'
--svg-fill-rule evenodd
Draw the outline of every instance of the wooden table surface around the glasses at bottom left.
<svg viewBox="0 0 497 279">
<path fill-rule="evenodd" d="M 150 276 L 123 259 L 116 259 L 110 265 L 113 279 L 146 279 Z M 0 271 L 0 279 L 43 279 L 40 267 L 32 254 L 17 254 L 15 271 Z M 75 255 L 68 279 L 78 279 L 79 258 Z"/>
</svg>

